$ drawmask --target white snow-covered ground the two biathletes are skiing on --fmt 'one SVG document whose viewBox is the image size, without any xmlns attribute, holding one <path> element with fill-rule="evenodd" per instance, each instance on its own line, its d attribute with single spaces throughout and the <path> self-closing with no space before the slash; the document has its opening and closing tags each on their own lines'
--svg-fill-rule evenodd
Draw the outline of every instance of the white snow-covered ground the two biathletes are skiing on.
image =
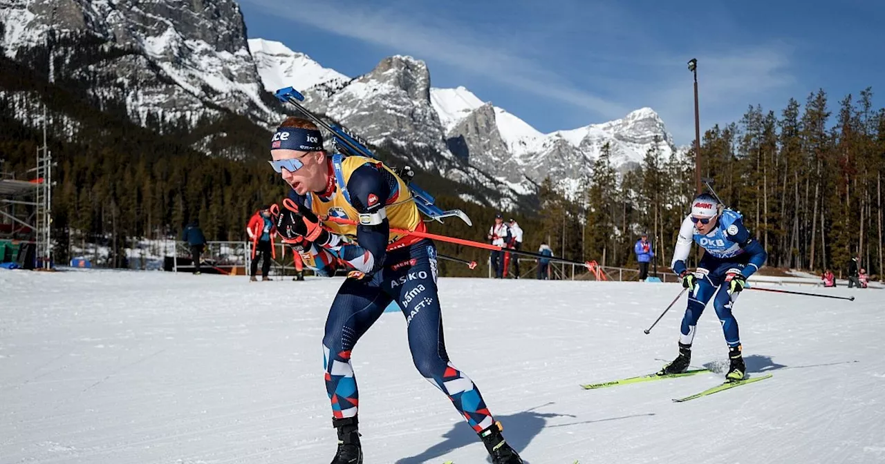
<svg viewBox="0 0 885 464">
<path fill-rule="evenodd" d="M 0 463 L 327 463 L 335 431 L 320 339 L 341 279 L 252 283 L 163 272 L 0 270 Z M 595 391 L 676 353 L 674 284 L 441 281 L 452 361 L 531 464 L 885 461 L 885 292 L 857 300 L 747 291 L 751 373 Z M 778 288 L 791 288 L 779 286 Z M 389 313 L 353 355 L 366 464 L 486 462 L 412 366 Z M 724 363 L 712 308 L 694 364 Z"/>
</svg>

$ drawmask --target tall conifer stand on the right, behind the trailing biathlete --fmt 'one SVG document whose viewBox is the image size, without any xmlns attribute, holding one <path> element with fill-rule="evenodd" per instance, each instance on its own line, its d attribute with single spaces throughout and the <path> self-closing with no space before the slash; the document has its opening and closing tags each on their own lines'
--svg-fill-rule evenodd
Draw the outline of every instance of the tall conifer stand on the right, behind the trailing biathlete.
<svg viewBox="0 0 885 464">
<path fill-rule="evenodd" d="M 767 266 L 838 276 L 856 255 L 881 276 L 885 109 L 874 107 L 871 88 L 838 101 L 820 89 L 780 109 L 750 106 L 740 121 L 704 132 L 701 156 L 702 176 L 743 214 Z M 600 156 L 584 199 L 545 197 L 544 231 L 554 247 L 564 231 L 566 255 L 608 265 L 629 264 L 637 234 L 648 232 L 666 266 L 695 194 L 694 157 L 694 149 L 684 158 L 650 152 L 619 182 Z M 563 214 L 565 227 L 557 225 Z"/>
</svg>

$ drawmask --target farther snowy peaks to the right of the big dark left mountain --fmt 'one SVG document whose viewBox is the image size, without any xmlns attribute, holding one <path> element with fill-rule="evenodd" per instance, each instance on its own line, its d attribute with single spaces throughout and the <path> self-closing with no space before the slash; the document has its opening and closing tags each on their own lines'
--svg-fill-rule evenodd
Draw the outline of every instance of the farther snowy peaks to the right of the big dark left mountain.
<svg viewBox="0 0 885 464">
<path fill-rule="evenodd" d="M 470 169 L 520 193 L 529 192 L 533 183 L 547 176 L 562 186 L 577 185 L 606 143 L 612 164 L 622 170 L 642 162 L 653 146 L 662 156 L 673 151 L 663 121 L 650 108 L 603 124 L 541 133 L 465 87 L 430 87 L 427 65 L 412 57 L 385 58 L 371 72 L 348 80 L 282 44 L 269 48 L 276 51 L 256 53 L 259 47 L 253 47 L 268 89 L 300 85 L 309 108 L 337 119 L 376 145 L 434 148 L 447 162 L 459 160 L 462 166 L 466 162 Z M 274 53 L 277 60 L 266 58 Z M 457 165 L 441 168 L 435 165 L 438 160 L 420 161 L 423 168 L 436 167 L 444 176 Z"/>
</svg>

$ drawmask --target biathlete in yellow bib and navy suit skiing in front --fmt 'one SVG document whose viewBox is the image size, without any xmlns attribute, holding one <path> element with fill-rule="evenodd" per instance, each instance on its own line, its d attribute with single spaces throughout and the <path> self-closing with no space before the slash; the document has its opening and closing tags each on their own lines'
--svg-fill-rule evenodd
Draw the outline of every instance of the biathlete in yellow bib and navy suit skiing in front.
<svg viewBox="0 0 885 464">
<path fill-rule="evenodd" d="M 476 385 L 446 354 L 434 243 L 391 230 L 424 231 L 404 181 L 375 159 L 328 155 L 317 126 L 302 118 L 288 118 L 277 128 L 271 156 L 273 169 L 292 187 L 276 217 L 283 240 L 319 275 L 342 266 L 349 271 L 323 337 L 326 390 L 338 430 L 333 464 L 362 462 L 350 354 L 391 301 L 406 317 L 420 374 L 449 396 L 494 463 L 521 463 Z"/>
</svg>

